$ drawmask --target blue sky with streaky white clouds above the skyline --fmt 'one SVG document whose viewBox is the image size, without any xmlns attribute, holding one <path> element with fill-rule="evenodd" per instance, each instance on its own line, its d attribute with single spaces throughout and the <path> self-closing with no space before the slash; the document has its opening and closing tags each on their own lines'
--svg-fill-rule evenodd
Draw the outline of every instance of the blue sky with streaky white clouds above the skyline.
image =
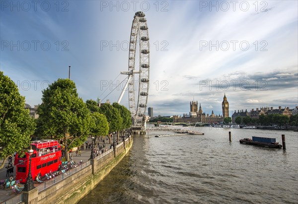
<svg viewBox="0 0 298 204">
<path fill-rule="evenodd" d="M 192 100 L 222 114 L 298 103 L 298 1 L 0 1 L 0 70 L 30 105 L 58 78 L 83 99 L 118 100 L 136 11 L 150 38 L 148 107 L 182 115 Z M 138 76 L 136 76 L 138 78 Z M 112 93 L 110 93 L 115 89 Z M 136 99 L 137 100 L 137 99 Z M 128 107 L 128 94 L 122 102 Z"/>
</svg>

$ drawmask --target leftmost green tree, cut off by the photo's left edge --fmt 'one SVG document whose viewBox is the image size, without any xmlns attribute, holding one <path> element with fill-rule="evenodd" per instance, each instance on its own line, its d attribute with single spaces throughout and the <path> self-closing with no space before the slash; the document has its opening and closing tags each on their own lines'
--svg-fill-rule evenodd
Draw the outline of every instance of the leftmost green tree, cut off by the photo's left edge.
<svg viewBox="0 0 298 204">
<path fill-rule="evenodd" d="M 0 71 L 0 159 L 4 166 L 7 157 L 28 148 L 34 133 L 34 119 L 25 109 L 25 98 L 17 86 Z"/>
</svg>

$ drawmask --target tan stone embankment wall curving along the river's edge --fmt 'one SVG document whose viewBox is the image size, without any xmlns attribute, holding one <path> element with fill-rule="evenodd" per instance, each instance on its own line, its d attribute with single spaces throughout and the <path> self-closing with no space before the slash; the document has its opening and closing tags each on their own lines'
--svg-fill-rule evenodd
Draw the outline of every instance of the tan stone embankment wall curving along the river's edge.
<svg viewBox="0 0 298 204">
<path fill-rule="evenodd" d="M 121 161 L 132 147 L 130 137 L 124 145 L 117 147 L 105 156 L 91 159 L 91 164 L 53 186 L 38 192 L 38 204 L 75 204 L 86 196 L 109 172 Z M 116 156 L 115 156 L 116 155 Z M 93 171 L 93 173 L 92 173 Z M 29 192 L 30 193 L 30 192 Z M 36 203 L 36 198 L 24 201 L 25 204 Z"/>
</svg>

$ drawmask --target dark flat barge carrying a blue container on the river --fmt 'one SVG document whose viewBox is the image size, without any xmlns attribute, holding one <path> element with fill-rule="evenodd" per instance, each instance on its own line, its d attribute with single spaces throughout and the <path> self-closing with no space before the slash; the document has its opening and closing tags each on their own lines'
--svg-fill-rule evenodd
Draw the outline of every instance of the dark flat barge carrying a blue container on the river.
<svg viewBox="0 0 298 204">
<path fill-rule="evenodd" d="M 276 142 L 275 138 L 252 137 L 239 140 L 241 144 L 257 145 L 265 148 L 282 148 L 283 146 Z"/>
</svg>

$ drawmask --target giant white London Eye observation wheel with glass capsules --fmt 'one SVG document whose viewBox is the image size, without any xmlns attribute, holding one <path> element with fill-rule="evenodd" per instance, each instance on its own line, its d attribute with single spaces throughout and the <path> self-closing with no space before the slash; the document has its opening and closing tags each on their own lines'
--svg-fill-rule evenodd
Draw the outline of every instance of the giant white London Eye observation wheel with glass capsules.
<svg viewBox="0 0 298 204">
<path fill-rule="evenodd" d="M 135 13 L 131 28 L 128 71 L 121 72 L 121 74 L 128 75 L 128 80 L 118 100 L 119 103 L 128 87 L 129 110 L 134 126 L 144 126 L 147 120 L 145 112 L 149 94 L 149 67 L 150 51 L 147 19 L 144 12 L 138 11 Z M 138 80 L 136 74 L 139 74 Z M 139 83 L 138 90 L 135 83 Z M 137 105 L 136 98 L 138 98 Z"/>
</svg>

